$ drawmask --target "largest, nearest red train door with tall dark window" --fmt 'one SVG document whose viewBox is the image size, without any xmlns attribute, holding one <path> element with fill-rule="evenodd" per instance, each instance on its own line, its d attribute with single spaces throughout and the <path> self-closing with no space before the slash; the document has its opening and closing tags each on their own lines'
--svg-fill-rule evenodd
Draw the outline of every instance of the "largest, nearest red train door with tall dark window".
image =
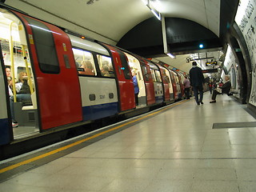
<svg viewBox="0 0 256 192">
<path fill-rule="evenodd" d="M 40 130 L 82 121 L 82 101 L 70 38 L 58 27 L 13 11 L 22 20 L 36 77 Z"/>
</svg>

